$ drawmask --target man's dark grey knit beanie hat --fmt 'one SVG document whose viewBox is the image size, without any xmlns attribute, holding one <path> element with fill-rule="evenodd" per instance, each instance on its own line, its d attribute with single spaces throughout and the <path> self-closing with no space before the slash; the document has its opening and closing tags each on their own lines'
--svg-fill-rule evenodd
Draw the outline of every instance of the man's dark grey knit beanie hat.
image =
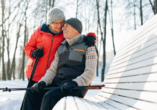
<svg viewBox="0 0 157 110">
<path fill-rule="evenodd" d="M 82 22 L 77 18 L 70 18 L 65 21 L 65 23 L 71 25 L 75 28 L 80 34 L 82 33 Z"/>
</svg>

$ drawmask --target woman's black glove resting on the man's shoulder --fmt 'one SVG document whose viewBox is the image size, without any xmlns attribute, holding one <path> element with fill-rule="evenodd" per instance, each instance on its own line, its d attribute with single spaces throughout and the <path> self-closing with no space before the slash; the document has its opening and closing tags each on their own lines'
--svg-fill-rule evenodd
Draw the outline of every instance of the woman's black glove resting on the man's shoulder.
<svg viewBox="0 0 157 110">
<path fill-rule="evenodd" d="M 84 41 L 86 42 L 86 45 L 88 45 L 88 47 L 95 45 L 95 37 L 91 34 L 84 37 Z"/>
</svg>

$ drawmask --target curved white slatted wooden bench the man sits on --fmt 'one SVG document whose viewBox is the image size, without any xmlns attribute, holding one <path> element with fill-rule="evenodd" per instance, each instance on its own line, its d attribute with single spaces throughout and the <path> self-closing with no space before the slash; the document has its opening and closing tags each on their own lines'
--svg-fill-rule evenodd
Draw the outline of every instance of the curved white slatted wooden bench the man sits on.
<svg viewBox="0 0 157 110">
<path fill-rule="evenodd" d="M 157 15 L 122 45 L 92 99 L 64 97 L 53 110 L 157 110 Z"/>
</svg>

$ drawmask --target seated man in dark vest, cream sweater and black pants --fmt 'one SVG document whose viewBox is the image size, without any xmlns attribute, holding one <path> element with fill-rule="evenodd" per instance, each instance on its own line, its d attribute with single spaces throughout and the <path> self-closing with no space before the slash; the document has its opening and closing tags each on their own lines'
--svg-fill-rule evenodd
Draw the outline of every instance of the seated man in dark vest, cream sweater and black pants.
<svg viewBox="0 0 157 110">
<path fill-rule="evenodd" d="M 73 88 L 90 85 L 96 75 L 96 48 L 85 45 L 81 21 L 70 18 L 62 30 L 65 40 L 58 47 L 46 74 L 27 92 L 24 110 L 52 110 L 64 96 L 83 98 L 87 90 Z M 46 86 L 60 88 L 42 90 Z"/>
</svg>

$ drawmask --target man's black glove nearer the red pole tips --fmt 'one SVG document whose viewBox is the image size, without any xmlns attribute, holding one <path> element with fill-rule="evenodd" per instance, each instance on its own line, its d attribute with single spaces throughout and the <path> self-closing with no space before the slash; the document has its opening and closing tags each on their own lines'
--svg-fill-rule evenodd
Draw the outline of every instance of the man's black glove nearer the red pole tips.
<svg viewBox="0 0 157 110">
<path fill-rule="evenodd" d="M 67 82 L 65 84 L 63 84 L 61 86 L 61 92 L 62 93 L 71 93 L 72 92 L 72 89 L 75 87 L 75 86 L 78 86 L 77 83 L 75 81 L 71 81 L 71 82 Z"/>
</svg>

